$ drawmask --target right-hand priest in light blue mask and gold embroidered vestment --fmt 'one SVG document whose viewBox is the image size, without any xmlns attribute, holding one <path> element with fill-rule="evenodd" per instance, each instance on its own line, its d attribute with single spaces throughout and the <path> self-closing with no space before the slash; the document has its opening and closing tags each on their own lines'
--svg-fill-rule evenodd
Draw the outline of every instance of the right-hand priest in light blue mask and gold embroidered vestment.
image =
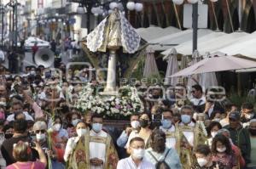
<svg viewBox="0 0 256 169">
<path fill-rule="evenodd" d="M 181 109 L 181 121 L 178 123 L 176 148 L 180 156 L 184 169 L 190 169 L 193 164 L 193 148 L 198 144 L 205 144 L 207 133 L 199 123 L 193 120 L 194 110 L 189 105 L 184 105 Z"/>
</svg>

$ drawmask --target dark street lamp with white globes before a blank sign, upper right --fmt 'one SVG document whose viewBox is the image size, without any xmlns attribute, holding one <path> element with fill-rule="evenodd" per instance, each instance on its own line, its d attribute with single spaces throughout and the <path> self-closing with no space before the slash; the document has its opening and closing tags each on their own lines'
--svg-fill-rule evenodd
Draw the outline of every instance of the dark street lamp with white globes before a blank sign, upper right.
<svg viewBox="0 0 256 169">
<path fill-rule="evenodd" d="M 187 0 L 189 3 L 192 3 L 192 28 L 193 28 L 193 53 L 197 50 L 197 30 L 198 30 L 198 1 L 199 0 Z M 201 2 L 205 3 L 206 0 L 202 0 Z M 218 0 L 209 0 L 212 3 L 217 2 Z M 173 3 L 177 5 L 183 4 L 183 0 L 172 0 Z"/>
</svg>

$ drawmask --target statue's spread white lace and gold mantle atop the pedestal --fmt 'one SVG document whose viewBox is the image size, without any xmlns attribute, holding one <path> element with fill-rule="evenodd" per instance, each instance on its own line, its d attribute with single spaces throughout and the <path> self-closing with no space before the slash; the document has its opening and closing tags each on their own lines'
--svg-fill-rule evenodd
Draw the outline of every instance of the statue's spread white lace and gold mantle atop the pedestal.
<svg viewBox="0 0 256 169">
<path fill-rule="evenodd" d="M 87 47 L 91 52 L 106 52 L 107 49 L 123 47 L 125 52 L 133 54 L 139 48 L 140 40 L 141 37 L 125 19 L 124 14 L 115 8 L 87 36 Z"/>
</svg>

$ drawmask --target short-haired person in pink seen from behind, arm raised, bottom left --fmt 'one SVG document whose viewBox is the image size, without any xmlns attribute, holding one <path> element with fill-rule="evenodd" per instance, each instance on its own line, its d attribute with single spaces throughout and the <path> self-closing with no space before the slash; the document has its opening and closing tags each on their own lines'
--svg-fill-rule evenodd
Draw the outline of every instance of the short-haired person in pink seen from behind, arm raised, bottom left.
<svg viewBox="0 0 256 169">
<path fill-rule="evenodd" d="M 15 157 L 15 163 L 6 167 L 6 169 L 16 169 L 16 168 L 37 168 L 44 169 L 47 165 L 47 159 L 44 155 L 43 149 L 40 147 L 38 143 L 34 143 L 36 149 L 38 151 L 39 160 L 37 161 L 29 161 L 30 156 L 32 155 L 32 148 L 29 146 L 27 142 L 19 141 L 17 144 L 14 144 L 13 155 Z"/>
</svg>

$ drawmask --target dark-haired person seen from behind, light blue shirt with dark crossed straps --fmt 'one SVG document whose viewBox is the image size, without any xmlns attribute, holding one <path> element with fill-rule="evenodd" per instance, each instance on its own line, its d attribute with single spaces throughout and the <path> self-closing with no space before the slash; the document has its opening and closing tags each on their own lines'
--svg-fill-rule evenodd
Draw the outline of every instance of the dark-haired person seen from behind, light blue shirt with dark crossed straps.
<svg viewBox="0 0 256 169">
<path fill-rule="evenodd" d="M 145 158 L 151 161 L 156 168 L 181 169 L 179 156 L 175 149 L 166 148 L 166 134 L 155 129 L 151 134 L 151 148 L 146 150 Z"/>
</svg>

